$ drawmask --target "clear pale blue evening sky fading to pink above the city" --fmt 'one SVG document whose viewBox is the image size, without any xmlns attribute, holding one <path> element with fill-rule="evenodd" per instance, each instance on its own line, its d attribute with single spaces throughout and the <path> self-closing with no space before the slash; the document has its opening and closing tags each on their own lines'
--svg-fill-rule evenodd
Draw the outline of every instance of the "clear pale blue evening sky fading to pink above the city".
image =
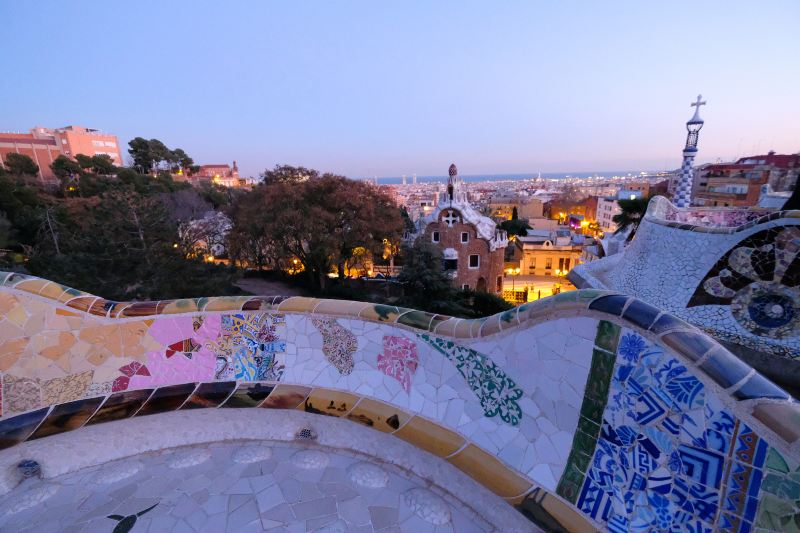
<svg viewBox="0 0 800 533">
<path fill-rule="evenodd" d="M 800 2 L 0 0 L 0 130 L 349 176 L 800 151 Z"/>
</svg>

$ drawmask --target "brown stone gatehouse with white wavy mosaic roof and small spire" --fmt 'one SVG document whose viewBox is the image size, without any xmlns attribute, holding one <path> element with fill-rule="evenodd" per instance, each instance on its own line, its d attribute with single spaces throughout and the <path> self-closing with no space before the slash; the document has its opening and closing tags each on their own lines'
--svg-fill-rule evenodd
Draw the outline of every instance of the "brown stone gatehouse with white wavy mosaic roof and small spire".
<svg viewBox="0 0 800 533">
<path fill-rule="evenodd" d="M 441 249 L 442 268 L 456 287 L 498 294 L 508 235 L 469 204 L 455 165 L 449 175 L 447 190 L 440 193 L 436 208 L 419 219 L 415 237 Z"/>
</svg>

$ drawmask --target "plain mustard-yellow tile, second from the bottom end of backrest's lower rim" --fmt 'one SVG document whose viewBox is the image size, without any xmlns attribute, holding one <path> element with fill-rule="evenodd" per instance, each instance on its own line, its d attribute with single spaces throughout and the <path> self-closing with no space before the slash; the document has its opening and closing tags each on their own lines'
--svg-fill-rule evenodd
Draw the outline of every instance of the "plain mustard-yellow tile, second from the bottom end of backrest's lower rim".
<svg viewBox="0 0 800 533">
<path fill-rule="evenodd" d="M 531 482 L 504 465 L 497 457 L 475 446 L 468 445 L 447 459 L 459 470 L 503 498 L 527 492 Z"/>
</svg>

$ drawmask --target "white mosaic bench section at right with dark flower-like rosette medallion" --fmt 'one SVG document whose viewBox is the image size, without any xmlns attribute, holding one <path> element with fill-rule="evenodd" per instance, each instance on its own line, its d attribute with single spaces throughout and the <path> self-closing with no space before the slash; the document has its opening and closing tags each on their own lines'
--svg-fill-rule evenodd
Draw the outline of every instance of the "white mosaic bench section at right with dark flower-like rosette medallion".
<svg viewBox="0 0 800 533">
<path fill-rule="evenodd" d="M 722 226 L 674 220 L 682 218 Z M 718 339 L 800 360 L 798 210 L 679 209 L 657 196 L 624 253 L 579 265 L 569 278 L 642 298 Z M 795 365 L 770 370 L 800 377 Z"/>
</svg>

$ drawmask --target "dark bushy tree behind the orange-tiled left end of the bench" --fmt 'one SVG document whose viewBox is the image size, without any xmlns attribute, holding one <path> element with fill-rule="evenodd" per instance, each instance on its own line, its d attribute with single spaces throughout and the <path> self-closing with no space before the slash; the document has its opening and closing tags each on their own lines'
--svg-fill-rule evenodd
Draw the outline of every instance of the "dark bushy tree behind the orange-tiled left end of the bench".
<svg viewBox="0 0 800 533">
<path fill-rule="evenodd" d="M 115 300 L 237 292 L 224 267 L 174 247 L 177 226 L 155 195 L 118 188 L 42 213 L 33 274 Z"/>
</svg>

